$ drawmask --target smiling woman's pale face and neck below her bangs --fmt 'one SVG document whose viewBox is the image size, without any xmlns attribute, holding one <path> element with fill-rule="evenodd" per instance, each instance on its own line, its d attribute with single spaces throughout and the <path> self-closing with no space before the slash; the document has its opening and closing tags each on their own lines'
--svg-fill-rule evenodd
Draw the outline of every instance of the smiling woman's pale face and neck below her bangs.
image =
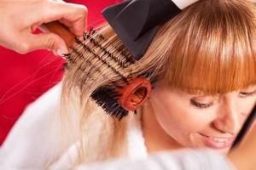
<svg viewBox="0 0 256 170">
<path fill-rule="evenodd" d="M 148 152 L 207 147 L 226 154 L 255 103 L 256 86 L 221 96 L 158 86 L 143 108 Z"/>
</svg>

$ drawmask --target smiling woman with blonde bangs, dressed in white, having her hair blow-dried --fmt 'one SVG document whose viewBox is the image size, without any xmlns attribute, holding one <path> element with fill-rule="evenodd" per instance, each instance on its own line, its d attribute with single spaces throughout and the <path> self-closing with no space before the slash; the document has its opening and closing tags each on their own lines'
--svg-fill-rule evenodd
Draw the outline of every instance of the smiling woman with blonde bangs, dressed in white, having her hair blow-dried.
<svg viewBox="0 0 256 170">
<path fill-rule="evenodd" d="M 227 153 L 256 101 L 255 16 L 250 1 L 208 0 L 161 26 L 143 59 L 119 68 L 125 77 L 150 72 L 148 78 L 158 80 L 138 115 L 129 114 L 121 122 L 90 99 L 96 88 L 119 77 L 78 47 L 84 55 L 73 54 L 67 61 L 62 122 L 55 117 L 60 112 L 58 86 L 31 105 L 15 127 L 26 125 L 26 139 L 20 143 L 26 151 L 32 147 L 31 157 L 24 158 L 30 161 L 23 162 L 61 168 L 118 156 L 140 158 L 160 150 L 207 147 Z M 99 33 L 106 48 L 122 45 L 109 26 Z M 115 47 L 106 45 L 112 42 Z M 102 53 L 90 41 L 84 43 Z M 114 65 L 113 60 L 109 63 Z M 19 135 L 16 129 L 5 148 Z M 34 139 L 38 131 L 44 133 Z"/>
</svg>

